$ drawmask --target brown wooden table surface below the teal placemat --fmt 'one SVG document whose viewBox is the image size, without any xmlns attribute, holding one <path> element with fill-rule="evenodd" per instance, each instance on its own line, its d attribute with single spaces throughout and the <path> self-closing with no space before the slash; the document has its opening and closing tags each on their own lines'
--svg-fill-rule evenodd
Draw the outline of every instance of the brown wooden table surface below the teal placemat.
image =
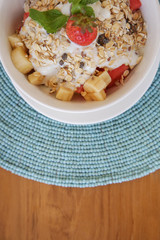
<svg viewBox="0 0 160 240">
<path fill-rule="evenodd" d="M 73 189 L 0 169 L 0 240 L 160 240 L 160 171 Z"/>
</svg>

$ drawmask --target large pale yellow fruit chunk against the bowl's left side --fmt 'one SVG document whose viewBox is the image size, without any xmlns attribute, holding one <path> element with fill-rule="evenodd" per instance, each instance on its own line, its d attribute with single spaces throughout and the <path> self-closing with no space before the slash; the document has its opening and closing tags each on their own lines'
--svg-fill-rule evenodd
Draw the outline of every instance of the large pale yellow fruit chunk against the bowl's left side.
<svg viewBox="0 0 160 240">
<path fill-rule="evenodd" d="M 12 50 L 11 58 L 15 67 L 24 74 L 29 73 L 32 69 L 32 63 L 23 47 L 17 47 Z"/>
</svg>

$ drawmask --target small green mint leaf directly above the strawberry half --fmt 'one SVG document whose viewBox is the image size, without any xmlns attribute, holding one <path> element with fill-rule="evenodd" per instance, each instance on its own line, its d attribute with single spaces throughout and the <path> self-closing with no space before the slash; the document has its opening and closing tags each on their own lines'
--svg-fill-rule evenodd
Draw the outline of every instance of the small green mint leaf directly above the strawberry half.
<svg viewBox="0 0 160 240">
<path fill-rule="evenodd" d="M 87 15 L 89 17 L 95 16 L 93 8 L 83 4 L 73 4 L 71 13 L 72 14 L 82 13 L 83 15 Z"/>
</svg>

